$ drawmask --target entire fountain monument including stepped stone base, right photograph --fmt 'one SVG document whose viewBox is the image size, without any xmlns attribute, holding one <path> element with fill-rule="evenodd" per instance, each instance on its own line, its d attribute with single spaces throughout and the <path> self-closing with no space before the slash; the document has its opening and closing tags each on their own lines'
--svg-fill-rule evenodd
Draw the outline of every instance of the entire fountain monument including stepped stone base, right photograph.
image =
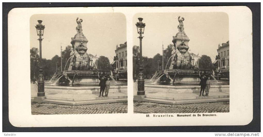
<svg viewBox="0 0 263 137">
<path fill-rule="evenodd" d="M 151 80 L 145 80 L 144 96 L 136 95 L 134 101 L 154 102 L 163 104 L 189 104 L 204 102 L 229 101 L 229 83 L 212 82 L 209 97 L 201 96 L 199 77 L 211 76 L 211 71 L 199 69 L 193 56 L 189 53 L 190 39 L 184 32 L 184 18 L 178 17 L 178 33 L 173 36 L 171 57 L 164 70 L 156 71 Z M 195 64 L 194 64 L 195 63 Z M 212 79 L 211 79 L 212 80 Z M 134 84 L 136 87 L 136 82 Z"/>
</svg>

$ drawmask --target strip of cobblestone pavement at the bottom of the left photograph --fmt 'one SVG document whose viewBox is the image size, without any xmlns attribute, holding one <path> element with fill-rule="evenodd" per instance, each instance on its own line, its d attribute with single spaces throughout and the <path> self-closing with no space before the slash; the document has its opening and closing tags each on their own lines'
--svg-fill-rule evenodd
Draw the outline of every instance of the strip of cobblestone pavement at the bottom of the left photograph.
<svg viewBox="0 0 263 137">
<path fill-rule="evenodd" d="M 105 114 L 105 113 L 127 113 L 127 102 L 104 103 L 90 105 L 59 105 L 50 103 L 31 102 L 31 114 Z"/>
</svg>

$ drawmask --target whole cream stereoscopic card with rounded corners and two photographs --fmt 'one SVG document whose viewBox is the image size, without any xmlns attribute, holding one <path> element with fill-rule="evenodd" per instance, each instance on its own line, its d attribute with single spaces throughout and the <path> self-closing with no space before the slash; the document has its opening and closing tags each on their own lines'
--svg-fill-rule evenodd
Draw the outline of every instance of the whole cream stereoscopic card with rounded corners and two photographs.
<svg viewBox="0 0 263 137">
<path fill-rule="evenodd" d="M 253 119 L 252 50 L 245 6 L 14 8 L 9 121 L 246 125 Z"/>
</svg>

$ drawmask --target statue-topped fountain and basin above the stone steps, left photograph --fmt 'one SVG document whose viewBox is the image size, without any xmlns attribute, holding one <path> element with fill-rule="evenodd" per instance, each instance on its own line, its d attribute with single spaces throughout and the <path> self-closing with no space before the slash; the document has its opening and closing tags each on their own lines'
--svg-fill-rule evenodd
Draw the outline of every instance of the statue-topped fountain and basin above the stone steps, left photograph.
<svg viewBox="0 0 263 137">
<path fill-rule="evenodd" d="M 110 76 L 109 70 L 97 70 L 93 65 L 93 60 L 87 53 L 88 39 L 82 32 L 82 19 L 76 19 L 77 34 L 71 38 L 71 53 L 64 71 L 55 72 L 51 81 L 56 83 L 78 84 L 78 85 L 96 85 L 99 82 L 99 77 Z"/>
</svg>

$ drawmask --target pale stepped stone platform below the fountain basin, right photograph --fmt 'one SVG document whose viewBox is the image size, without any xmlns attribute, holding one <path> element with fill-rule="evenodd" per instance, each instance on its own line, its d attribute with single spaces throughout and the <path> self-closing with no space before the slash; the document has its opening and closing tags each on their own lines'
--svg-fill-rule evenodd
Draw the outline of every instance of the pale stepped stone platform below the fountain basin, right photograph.
<svg viewBox="0 0 263 137">
<path fill-rule="evenodd" d="M 211 85 L 209 96 L 199 96 L 200 86 L 145 85 L 145 95 L 137 96 L 134 82 L 134 101 L 162 104 L 190 104 L 229 101 L 229 85 Z"/>
</svg>

